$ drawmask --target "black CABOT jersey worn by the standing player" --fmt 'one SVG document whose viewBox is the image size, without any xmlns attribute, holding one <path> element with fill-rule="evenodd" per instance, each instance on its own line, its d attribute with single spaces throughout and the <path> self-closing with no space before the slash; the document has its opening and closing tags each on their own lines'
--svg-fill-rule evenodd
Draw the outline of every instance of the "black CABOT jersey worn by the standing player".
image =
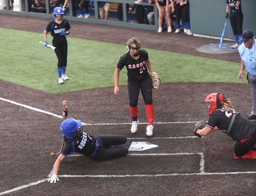
<svg viewBox="0 0 256 196">
<path fill-rule="evenodd" d="M 149 76 L 146 61 L 148 60 L 148 52 L 145 50 L 140 51 L 139 59 L 133 59 L 130 52 L 126 52 L 120 57 L 116 68 L 121 70 L 126 66 L 127 75 L 131 78 L 145 78 Z"/>
</svg>

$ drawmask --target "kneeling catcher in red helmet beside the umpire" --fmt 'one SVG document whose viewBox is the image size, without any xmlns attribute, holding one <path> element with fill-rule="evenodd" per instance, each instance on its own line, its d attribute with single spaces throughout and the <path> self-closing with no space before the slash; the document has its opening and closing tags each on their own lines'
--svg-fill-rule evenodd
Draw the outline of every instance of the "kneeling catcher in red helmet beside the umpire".
<svg viewBox="0 0 256 196">
<path fill-rule="evenodd" d="M 231 99 L 221 93 L 212 93 L 205 99 L 210 116 L 203 129 L 196 134 L 206 136 L 212 131 L 221 130 L 236 141 L 233 158 L 256 159 L 256 125 L 232 108 Z"/>
</svg>

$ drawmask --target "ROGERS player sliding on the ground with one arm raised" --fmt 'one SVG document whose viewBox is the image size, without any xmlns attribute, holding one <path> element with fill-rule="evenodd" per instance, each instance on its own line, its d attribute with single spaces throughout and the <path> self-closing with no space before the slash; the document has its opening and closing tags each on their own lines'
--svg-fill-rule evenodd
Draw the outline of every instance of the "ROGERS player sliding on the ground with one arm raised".
<svg viewBox="0 0 256 196">
<path fill-rule="evenodd" d="M 83 130 L 81 121 L 68 118 L 67 101 L 62 102 L 63 122 L 60 129 L 63 133 L 62 145 L 59 153 L 51 153 L 52 156 L 59 155 L 55 161 L 52 177 L 48 180 L 51 183 L 59 181 L 57 177 L 60 162 L 71 153 L 80 153 L 84 156 L 92 158 L 94 161 L 106 161 L 117 157 L 125 156 L 128 149 L 124 146 L 127 138 L 121 135 L 88 135 Z M 64 144 L 66 143 L 65 147 Z"/>
</svg>

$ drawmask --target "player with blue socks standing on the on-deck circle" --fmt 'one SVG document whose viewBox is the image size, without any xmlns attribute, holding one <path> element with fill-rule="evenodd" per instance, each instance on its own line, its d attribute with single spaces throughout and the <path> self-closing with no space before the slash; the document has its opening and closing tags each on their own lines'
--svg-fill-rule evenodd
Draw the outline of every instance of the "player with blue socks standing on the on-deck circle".
<svg viewBox="0 0 256 196">
<path fill-rule="evenodd" d="M 243 18 L 244 15 L 242 13 L 241 0 L 227 0 L 227 8 L 226 8 L 226 18 L 228 19 L 228 12 L 230 8 L 229 20 L 232 27 L 233 35 L 235 38 L 235 44 L 232 45 L 232 48 L 239 47 L 239 39 L 243 34 Z M 240 45 L 243 42 L 240 41 Z"/>
</svg>

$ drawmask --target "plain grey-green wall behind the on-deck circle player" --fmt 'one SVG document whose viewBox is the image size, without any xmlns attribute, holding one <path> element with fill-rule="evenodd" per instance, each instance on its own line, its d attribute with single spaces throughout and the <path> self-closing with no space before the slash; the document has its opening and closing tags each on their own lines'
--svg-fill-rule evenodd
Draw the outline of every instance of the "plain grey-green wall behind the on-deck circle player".
<svg viewBox="0 0 256 196">
<path fill-rule="evenodd" d="M 197 34 L 220 37 L 225 24 L 226 0 L 190 0 L 191 31 Z M 244 14 L 243 31 L 252 30 L 256 35 L 256 0 L 241 0 Z M 234 39 L 228 19 L 225 37 Z"/>
</svg>

